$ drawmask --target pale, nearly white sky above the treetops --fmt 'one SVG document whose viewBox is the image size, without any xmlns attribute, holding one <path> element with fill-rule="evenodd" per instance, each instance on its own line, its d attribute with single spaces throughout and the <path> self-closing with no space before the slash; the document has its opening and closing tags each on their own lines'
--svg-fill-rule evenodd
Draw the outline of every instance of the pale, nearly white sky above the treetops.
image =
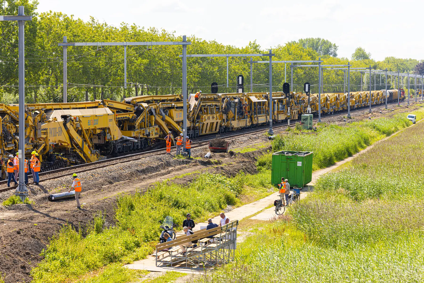
<svg viewBox="0 0 424 283">
<path fill-rule="evenodd" d="M 424 1 L 337 0 L 39 0 L 38 12 L 89 16 L 119 27 L 121 22 L 165 28 L 225 45 L 257 40 L 273 48 L 306 37 L 321 37 L 351 58 L 358 46 L 371 58 L 424 59 Z"/>
</svg>

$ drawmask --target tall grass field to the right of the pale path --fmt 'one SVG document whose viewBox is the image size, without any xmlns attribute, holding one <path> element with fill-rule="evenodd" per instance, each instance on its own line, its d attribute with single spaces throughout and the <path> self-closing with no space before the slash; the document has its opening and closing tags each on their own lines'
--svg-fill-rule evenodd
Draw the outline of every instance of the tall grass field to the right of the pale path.
<svg viewBox="0 0 424 283">
<path fill-rule="evenodd" d="M 410 124 L 398 119 L 382 120 L 385 129 Z M 366 124 L 357 131 L 369 132 Z M 423 140 L 418 123 L 321 177 L 285 216 L 260 225 L 234 263 L 198 281 L 423 282 Z"/>
</svg>

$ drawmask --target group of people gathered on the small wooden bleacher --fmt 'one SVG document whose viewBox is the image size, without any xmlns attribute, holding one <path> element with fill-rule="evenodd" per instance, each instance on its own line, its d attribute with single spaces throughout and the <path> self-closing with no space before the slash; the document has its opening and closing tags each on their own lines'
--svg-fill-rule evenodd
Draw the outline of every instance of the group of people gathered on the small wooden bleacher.
<svg viewBox="0 0 424 283">
<path fill-rule="evenodd" d="M 219 226 L 224 226 L 225 224 L 230 223 L 230 219 L 227 216 L 225 216 L 225 214 L 223 212 L 221 212 L 219 214 L 219 216 L 221 218 L 220 221 L 219 221 Z M 190 213 L 187 213 L 186 219 L 184 219 L 184 221 L 183 221 L 184 234 L 186 234 L 187 236 L 194 234 L 193 231 L 192 231 L 192 229 L 194 227 L 195 227 L 194 221 L 193 221 L 193 219 L 191 219 Z M 216 227 L 218 227 L 218 224 L 212 223 L 212 218 L 209 218 L 208 219 L 208 225 L 206 226 L 206 230 L 213 229 L 213 228 L 216 228 Z M 167 241 L 167 242 L 172 241 L 172 238 L 170 237 L 170 235 L 168 233 L 164 233 L 163 237 L 165 238 L 165 241 Z M 208 236 L 206 238 L 210 238 L 209 241 L 213 242 L 213 236 Z M 198 244 L 198 240 L 193 240 L 193 241 L 189 241 L 187 243 L 183 243 L 183 244 L 179 245 L 180 248 L 181 248 L 181 251 L 182 251 L 182 255 L 184 256 L 187 252 L 187 249 L 185 247 L 195 248 L 195 247 L 197 247 L 197 244 Z M 167 251 L 168 251 L 168 249 L 162 249 L 161 250 L 161 252 L 167 252 Z"/>
</svg>

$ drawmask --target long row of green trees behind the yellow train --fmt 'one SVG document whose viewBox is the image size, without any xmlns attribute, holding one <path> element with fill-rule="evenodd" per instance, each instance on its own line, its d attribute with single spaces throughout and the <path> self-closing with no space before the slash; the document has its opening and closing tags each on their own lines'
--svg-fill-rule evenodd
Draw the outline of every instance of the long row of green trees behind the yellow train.
<svg viewBox="0 0 424 283">
<path fill-rule="evenodd" d="M 58 44 L 67 36 L 68 42 L 156 42 L 181 41 L 175 32 L 144 28 L 122 23 L 120 27 L 99 22 L 94 18 L 84 22 L 73 15 L 61 12 L 36 13 L 36 1 L 0 0 L 2 14 L 17 14 L 17 6 L 25 6 L 25 14 L 33 15 L 25 22 L 25 81 L 27 102 L 60 102 L 63 86 L 63 50 Z M 0 22 L 0 99 L 17 102 L 18 38 L 17 22 Z M 188 36 L 191 45 L 188 54 L 268 53 L 256 41 L 238 48 Z M 338 46 L 321 38 L 299 39 L 273 48 L 273 60 L 324 60 L 324 64 L 347 64 L 352 67 L 368 67 L 389 71 L 415 71 L 424 73 L 423 63 L 415 59 L 387 57 L 383 61 L 371 59 L 371 54 L 357 48 L 351 60 L 337 57 Z M 85 101 L 140 94 L 181 93 L 181 46 L 154 45 L 127 47 L 127 82 L 124 89 L 124 49 L 122 46 L 75 46 L 67 48 L 68 101 Z M 263 60 L 254 57 L 253 60 Z M 266 58 L 266 57 L 265 57 Z M 229 87 L 226 87 L 226 58 L 187 58 L 187 86 L 189 92 L 210 92 L 210 84 L 217 82 L 220 92 L 234 92 L 238 75 L 245 77 L 245 91 L 250 90 L 250 58 L 229 58 Z M 253 64 L 253 90 L 268 91 L 269 64 Z M 290 64 L 273 64 L 273 91 L 281 91 L 282 84 L 291 82 Z M 343 71 L 327 70 L 323 74 L 325 92 L 343 91 L 346 78 Z M 359 72 L 350 74 L 352 90 L 369 87 L 369 76 Z M 384 88 L 384 76 L 375 78 L 377 89 Z M 394 84 L 393 77 L 390 83 Z M 294 67 L 293 90 L 303 89 L 304 82 L 312 84 L 312 92 L 318 92 L 318 68 Z M 406 78 L 403 80 L 406 82 Z M 412 81 L 411 81 L 412 82 Z M 347 81 L 346 81 L 347 83 Z M 374 84 L 374 77 L 371 78 Z"/>
</svg>

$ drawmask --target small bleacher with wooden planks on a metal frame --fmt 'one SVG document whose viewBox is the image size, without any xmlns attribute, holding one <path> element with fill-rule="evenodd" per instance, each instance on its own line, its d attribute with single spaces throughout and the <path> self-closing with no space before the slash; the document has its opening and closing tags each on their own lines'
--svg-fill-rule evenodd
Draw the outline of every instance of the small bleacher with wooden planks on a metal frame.
<svg viewBox="0 0 424 283">
<path fill-rule="evenodd" d="M 206 269 L 233 261 L 237 247 L 237 225 L 238 220 L 234 220 L 223 227 L 202 229 L 190 236 L 182 235 L 156 245 L 156 266 Z M 213 237 L 213 242 L 208 241 L 209 236 Z M 179 245 L 192 240 L 198 240 L 198 247 L 186 247 L 187 252 L 183 255 Z M 163 252 L 162 249 L 169 250 Z"/>
</svg>

